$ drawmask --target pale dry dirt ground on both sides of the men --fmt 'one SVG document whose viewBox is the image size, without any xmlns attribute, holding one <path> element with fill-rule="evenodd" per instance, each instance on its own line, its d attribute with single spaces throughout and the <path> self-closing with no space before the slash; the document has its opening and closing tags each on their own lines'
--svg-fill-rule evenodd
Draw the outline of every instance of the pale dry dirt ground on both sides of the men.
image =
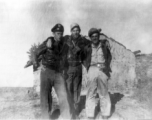
<svg viewBox="0 0 152 120">
<path fill-rule="evenodd" d="M 0 119 L 40 119 L 40 99 L 29 92 L 31 89 L 0 88 Z M 109 120 L 152 119 L 152 111 L 148 106 L 139 103 L 131 95 L 113 94 L 111 100 L 112 115 Z M 86 119 L 83 108 L 80 118 Z"/>
</svg>

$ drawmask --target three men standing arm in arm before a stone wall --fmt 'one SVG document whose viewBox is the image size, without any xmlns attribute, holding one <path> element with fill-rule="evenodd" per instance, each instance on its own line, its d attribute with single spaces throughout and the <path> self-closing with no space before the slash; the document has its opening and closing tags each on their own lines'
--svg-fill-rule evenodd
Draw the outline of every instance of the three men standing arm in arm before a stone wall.
<svg viewBox="0 0 152 120">
<path fill-rule="evenodd" d="M 49 119 L 49 112 L 52 109 L 52 87 L 54 87 L 59 99 L 61 118 L 72 118 L 71 106 L 74 106 L 74 111 L 78 116 L 82 64 L 87 68 L 89 76 L 86 96 L 87 117 L 94 118 L 97 94 L 100 99 L 101 115 L 103 118 L 108 117 L 111 110 L 107 82 L 107 68 L 111 61 L 108 42 L 99 40 L 100 32 L 96 28 L 89 30 L 88 35 L 91 41 L 87 40 L 80 35 L 81 29 L 76 23 L 71 25 L 70 36 L 63 37 L 64 28 L 61 24 L 56 24 L 51 31 L 54 37 L 47 38 L 40 45 L 36 55 L 36 58 L 42 56 L 40 74 L 42 118 Z M 67 77 L 65 77 L 66 74 Z M 72 105 L 69 98 L 72 98 Z"/>
</svg>

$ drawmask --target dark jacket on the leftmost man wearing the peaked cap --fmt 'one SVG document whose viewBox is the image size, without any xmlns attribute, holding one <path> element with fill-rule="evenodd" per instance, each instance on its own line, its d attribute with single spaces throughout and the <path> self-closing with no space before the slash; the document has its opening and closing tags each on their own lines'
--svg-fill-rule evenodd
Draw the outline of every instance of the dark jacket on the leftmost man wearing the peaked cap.
<svg viewBox="0 0 152 120">
<path fill-rule="evenodd" d="M 51 48 L 46 46 L 48 40 L 51 40 L 52 42 Z M 61 69 L 62 48 L 63 39 L 61 39 L 59 42 L 56 42 L 54 37 L 49 37 L 37 49 L 36 58 L 41 57 L 40 60 L 42 60 L 42 64 L 46 67 L 50 67 L 52 69 Z"/>
</svg>

